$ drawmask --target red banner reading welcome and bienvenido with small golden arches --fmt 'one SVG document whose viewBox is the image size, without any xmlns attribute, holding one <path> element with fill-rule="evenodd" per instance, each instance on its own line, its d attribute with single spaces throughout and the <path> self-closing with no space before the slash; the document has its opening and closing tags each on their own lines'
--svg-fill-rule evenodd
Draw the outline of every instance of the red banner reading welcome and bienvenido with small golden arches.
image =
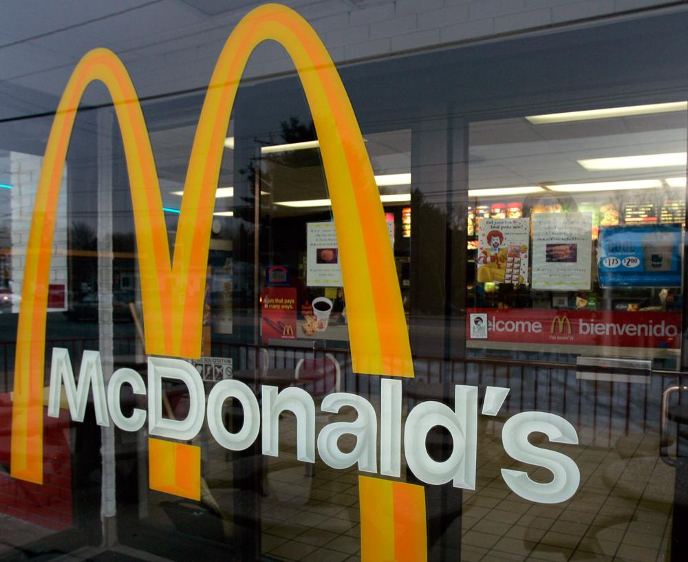
<svg viewBox="0 0 688 562">
<path fill-rule="evenodd" d="M 487 338 L 471 338 L 471 322 L 484 314 Z M 466 338 L 476 342 L 679 349 L 680 333 L 680 312 L 469 308 L 466 314 Z"/>
</svg>

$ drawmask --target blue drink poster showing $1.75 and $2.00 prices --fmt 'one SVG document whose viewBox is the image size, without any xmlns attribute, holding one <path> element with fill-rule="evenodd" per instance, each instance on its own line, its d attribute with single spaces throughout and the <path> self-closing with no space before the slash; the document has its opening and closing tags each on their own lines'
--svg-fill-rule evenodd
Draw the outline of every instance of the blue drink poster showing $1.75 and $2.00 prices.
<svg viewBox="0 0 688 562">
<path fill-rule="evenodd" d="M 680 287 L 681 226 L 605 226 L 597 267 L 603 287 Z"/>
</svg>

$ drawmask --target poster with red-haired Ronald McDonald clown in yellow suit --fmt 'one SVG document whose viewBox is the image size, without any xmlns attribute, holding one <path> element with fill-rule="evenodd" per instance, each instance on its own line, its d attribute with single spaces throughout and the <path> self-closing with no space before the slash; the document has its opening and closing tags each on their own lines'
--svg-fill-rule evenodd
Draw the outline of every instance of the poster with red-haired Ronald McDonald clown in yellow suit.
<svg viewBox="0 0 688 562">
<path fill-rule="evenodd" d="M 528 283 L 529 219 L 482 219 L 477 235 L 478 283 Z"/>
</svg>

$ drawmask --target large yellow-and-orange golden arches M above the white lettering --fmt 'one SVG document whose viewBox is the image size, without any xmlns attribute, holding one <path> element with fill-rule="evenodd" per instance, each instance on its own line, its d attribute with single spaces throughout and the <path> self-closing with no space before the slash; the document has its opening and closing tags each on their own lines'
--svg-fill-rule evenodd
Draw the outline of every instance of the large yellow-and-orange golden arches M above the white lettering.
<svg viewBox="0 0 688 562">
<path fill-rule="evenodd" d="M 405 314 L 382 204 L 351 102 L 325 46 L 290 8 L 249 12 L 226 41 L 208 85 L 178 222 L 173 261 L 160 186 L 136 90 L 109 50 L 74 69 L 50 131 L 28 242 L 12 410 L 12 476 L 43 482 L 43 365 L 50 255 L 58 194 L 76 111 L 86 87 L 109 90 L 122 131 L 141 271 L 148 354 L 198 357 L 206 264 L 224 138 L 248 57 L 262 41 L 283 45 L 297 68 L 316 132 L 341 255 L 354 371 L 413 376 Z"/>
</svg>

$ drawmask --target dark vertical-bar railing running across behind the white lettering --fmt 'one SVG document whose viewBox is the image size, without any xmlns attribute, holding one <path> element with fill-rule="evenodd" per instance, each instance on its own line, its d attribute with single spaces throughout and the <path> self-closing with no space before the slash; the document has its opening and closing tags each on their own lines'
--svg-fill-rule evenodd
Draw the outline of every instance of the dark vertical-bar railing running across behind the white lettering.
<svg viewBox="0 0 688 562">
<path fill-rule="evenodd" d="M 45 377 L 50 376 L 50 358 L 54 347 L 64 347 L 75 364 L 86 349 L 98 349 L 98 338 L 63 338 L 46 341 Z M 0 391 L 12 391 L 15 342 L 0 342 Z M 137 356 L 136 338 L 115 338 L 115 366 L 145 369 L 144 356 Z M 142 348 L 138 349 L 142 352 Z M 361 376 L 352 370 L 350 352 L 341 348 L 303 349 L 294 347 L 261 347 L 239 343 L 216 343 L 213 356 L 231 357 L 233 369 L 245 375 L 277 369 L 287 373 L 296 369 L 299 360 L 324 358 L 330 354 L 341 369 L 341 390 L 356 393 L 375 402 L 379 395 L 379 378 Z M 140 365 L 137 364 L 138 357 Z M 646 384 L 610 380 L 583 380 L 575 365 L 538 360 L 491 358 L 413 359 L 416 378 L 407 385 L 474 385 L 481 392 L 486 386 L 508 387 L 503 413 L 549 411 L 562 415 L 576 426 L 591 428 L 596 435 L 612 439 L 621 431 L 658 431 L 663 389 L 688 374 L 676 371 L 653 371 Z M 590 371 L 589 367 L 586 367 Z M 685 380 L 685 379 L 683 379 Z M 418 393 L 416 393 L 417 395 Z M 451 402 L 451 389 L 445 397 Z"/>
</svg>

